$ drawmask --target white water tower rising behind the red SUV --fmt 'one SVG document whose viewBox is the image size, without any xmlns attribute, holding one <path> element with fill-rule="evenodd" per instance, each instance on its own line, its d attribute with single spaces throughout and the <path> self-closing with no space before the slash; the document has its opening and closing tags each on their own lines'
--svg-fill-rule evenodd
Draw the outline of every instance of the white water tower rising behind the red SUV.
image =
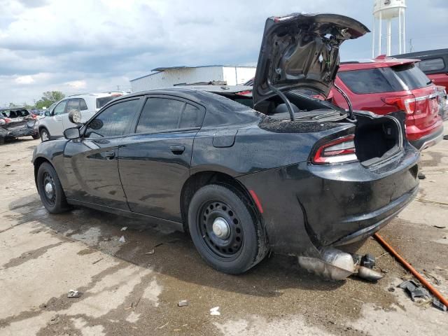
<svg viewBox="0 0 448 336">
<path fill-rule="evenodd" d="M 373 4 L 373 29 L 372 29 L 372 57 L 381 55 L 381 38 L 383 21 L 386 21 L 387 43 L 386 55 L 391 55 L 391 22 L 398 18 L 398 53 L 406 52 L 405 33 L 405 0 L 374 0 Z M 379 22 L 377 27 L 377 22 Z M 378 28 L 378 29 L 377 29 Z M 378 40 L 377 50 L 375 41 Z"/>
</svg>

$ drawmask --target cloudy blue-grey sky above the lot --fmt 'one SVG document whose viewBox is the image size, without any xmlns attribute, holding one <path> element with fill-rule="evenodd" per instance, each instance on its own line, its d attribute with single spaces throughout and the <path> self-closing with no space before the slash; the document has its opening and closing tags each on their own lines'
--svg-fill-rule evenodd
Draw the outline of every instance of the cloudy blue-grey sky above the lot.
<svg viewBox="0 0 448 336">
<path fill-rule="evenodd" d="M 0 0 L 0 106 L 43 91 L 102 92 L 158 66 L 255 64 L 265 19 L 339 13 L 372 27 L 373 0 Z M 414 51 L 448 48 L 448 1 L 407 0 Z M 342 45 L 371 55 L 372 34 Z M 398 48 L 396 39 L 393 48 Z M 385 43 L 384 43 L 385 45 Z M 398 52 L 398 49 L 393 52 Z"/>
</svg>

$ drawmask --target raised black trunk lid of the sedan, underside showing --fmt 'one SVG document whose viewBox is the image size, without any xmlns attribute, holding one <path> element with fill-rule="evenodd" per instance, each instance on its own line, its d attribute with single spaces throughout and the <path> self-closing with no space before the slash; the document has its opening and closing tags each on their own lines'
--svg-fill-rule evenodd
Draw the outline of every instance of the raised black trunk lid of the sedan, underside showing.
<svg viewBox="0 0 448 336">
<path fill-rule="evenodd" d="M 362 23 L 336 14 L 291 14 L 266 20 L 253 83 L 253 102 L 275 90 L 314 90 L 325 97 L 339 67 L 339 46 L 369 32 Z"/>
</svg>

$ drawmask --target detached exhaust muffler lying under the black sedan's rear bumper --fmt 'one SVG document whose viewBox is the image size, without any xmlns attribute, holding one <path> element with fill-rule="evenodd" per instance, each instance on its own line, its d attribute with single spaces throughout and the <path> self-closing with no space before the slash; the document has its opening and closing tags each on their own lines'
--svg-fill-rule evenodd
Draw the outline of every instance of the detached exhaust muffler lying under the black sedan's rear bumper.
<svg viewBox="0 0 448 336">
<path fill-rule="evenodd" d="M 384 277 L 379 272 L 357 265 L 351 254 L 342 252 L 337 248 L 323 248 L 321 250 L 321 258 L 301 255 L 297 259 L 300 267 L 329 280 L 344 280 L 351 274 L 357 274 L 360 278 L 367 281 L 378 281 Z"/>
</svg>

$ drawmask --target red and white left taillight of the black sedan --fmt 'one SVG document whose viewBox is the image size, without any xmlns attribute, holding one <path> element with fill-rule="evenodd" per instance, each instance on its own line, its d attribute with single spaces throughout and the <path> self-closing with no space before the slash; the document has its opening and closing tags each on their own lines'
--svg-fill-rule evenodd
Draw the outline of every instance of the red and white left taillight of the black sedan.
<svg viewBox="0 0 448 336">
<path fill-rule="evenodd" d="M 331 165 L 356 161 L 355 143 L 353 134 L 323 144 L 314 154 L 312 162 L 316 165 Z"/>
</svg>

